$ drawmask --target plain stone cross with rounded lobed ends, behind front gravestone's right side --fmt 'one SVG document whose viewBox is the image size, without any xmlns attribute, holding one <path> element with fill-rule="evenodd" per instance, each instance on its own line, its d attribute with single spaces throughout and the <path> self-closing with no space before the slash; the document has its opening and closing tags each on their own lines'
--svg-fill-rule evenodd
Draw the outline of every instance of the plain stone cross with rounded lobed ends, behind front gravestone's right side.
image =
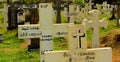
<svg viewBox="0 0 120 62">
<path fill-rule="evenodd" d="M 93 48 L 98 48 L 99 47 L 99 27 L 107 27 L 107 22 L 105 19 L 103 20 L 98 20 L 98 16 L 100 15 L 100 12 L 98 10 L 92 10 L 89 11 L 89 18 L 90 21 L 86 20 L 86 25 L 87 29 L 92 28 L 93 33 L 92 33 L 92 47 Z M 84 20 L 85 21 L 85 20 Z"/>
</svg>

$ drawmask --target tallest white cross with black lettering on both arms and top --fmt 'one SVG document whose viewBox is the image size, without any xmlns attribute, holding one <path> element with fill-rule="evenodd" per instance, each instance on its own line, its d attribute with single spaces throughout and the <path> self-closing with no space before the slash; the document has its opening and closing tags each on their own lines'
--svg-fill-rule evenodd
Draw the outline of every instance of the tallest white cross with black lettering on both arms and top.
<svg viewBox="0 0 120 62">
<path fill-rule="evenodd" d="M 53 9 L 51 3 L 39 4 L 39 24 L 19 25 L 18 37 L 40 38 L 41 62 L 44 62 L 44 52 L 53 50 L 53 37 L 68 35 L 69 24 L 53 24 Z"/>
</svg>

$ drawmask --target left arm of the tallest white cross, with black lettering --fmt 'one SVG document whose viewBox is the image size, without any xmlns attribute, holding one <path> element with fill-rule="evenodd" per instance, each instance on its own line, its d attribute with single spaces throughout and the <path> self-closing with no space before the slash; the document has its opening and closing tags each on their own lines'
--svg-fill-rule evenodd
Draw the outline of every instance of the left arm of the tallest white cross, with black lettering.
<svg viewBox="0 0 120 62">
<path fill-rule="evenodd" d="M 42 32 L 40 32 L 40 26 L 38 24 L 32 25 L 19 25 L 18 37 L 23 38 L 40 38 Z"/>
</svg>

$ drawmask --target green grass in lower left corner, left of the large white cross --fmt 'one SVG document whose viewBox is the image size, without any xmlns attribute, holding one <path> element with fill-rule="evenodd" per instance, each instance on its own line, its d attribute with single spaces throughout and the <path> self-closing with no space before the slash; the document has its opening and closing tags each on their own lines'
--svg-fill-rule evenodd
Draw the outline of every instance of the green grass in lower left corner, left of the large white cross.
<svg viewBox="0 0 120 62">
<path fill-rule="evenodd" d="M 39 52 L 20 48 L 23 42 L 18 39 L 16 30 L 4 32 L 3 43 L 0 44 L 0 62 L 40 62 Z"/>
</svg>

